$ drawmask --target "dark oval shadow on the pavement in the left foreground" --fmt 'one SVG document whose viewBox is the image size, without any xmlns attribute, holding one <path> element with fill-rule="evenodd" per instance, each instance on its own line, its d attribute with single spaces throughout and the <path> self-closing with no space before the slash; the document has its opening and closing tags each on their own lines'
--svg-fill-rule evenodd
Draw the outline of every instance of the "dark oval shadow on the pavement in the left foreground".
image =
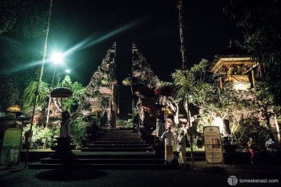
<svg viewBox="0 0 281 187">
<path fill-rule="evenodd" d="M 77 181 L 106 177 L 107 172 L 100 170 L 48 170 L 35 175 L 36 178 L 50 181 Z"/>
</svg>

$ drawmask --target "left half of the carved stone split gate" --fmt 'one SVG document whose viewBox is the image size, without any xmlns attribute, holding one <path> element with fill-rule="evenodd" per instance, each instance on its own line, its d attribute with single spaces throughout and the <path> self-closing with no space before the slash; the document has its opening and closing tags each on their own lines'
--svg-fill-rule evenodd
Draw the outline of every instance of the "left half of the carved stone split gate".
<svg viewBox="0 0 281 187">
<path fill-rule="evenodd" d="M 99 120 L 101 125 L 110 124 L 116 126 L 116 42 L 108 50 L 106 58 L 93 73 L 90 83 L 87 85 L 87 104 L 84 115 L 90 117 L 90 121 Z M 102 80 L 111 80 L 107 84 L 102 84 Z"/>
</svg>

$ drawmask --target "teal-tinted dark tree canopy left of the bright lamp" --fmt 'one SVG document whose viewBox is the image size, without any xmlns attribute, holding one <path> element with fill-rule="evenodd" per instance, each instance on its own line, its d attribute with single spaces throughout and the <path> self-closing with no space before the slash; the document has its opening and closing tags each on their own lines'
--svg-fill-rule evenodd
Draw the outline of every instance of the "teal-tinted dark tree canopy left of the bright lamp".
<svg viewBox="0 0 281 187">
<path fill-rule="evenodd" d="M 38 79 L 48 13 L 47 0 L 0 1 L 1 111 L 23 106 L 23 90 Z"/>
</svg>

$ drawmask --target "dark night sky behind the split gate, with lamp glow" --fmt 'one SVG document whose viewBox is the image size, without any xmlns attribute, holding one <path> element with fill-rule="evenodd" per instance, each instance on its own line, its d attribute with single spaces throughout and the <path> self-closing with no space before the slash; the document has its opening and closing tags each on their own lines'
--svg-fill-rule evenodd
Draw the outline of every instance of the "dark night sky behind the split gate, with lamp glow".
<svg viewBox="0 0 281 187">
<path fill-rule="evenodd" d="M 217 52 L 228 48 L 230 39 L 242 39 L 235 20 L 223 12 L 227 4 L 225 0 L 184 1 L 189 67 L 201 59 L 212 61 Z M 53 1 L 47 53 L 69 52 L 64 66 L 72 70 L 73 81 L 86 86 L 116 41 L 117 80 L 123 93 L 120 105 L 130 108 L 131 101 L 126 100 L 130 88 L 121 84 L 131 73 L 132 41 L 159 79 L 171 81 L 171 73 L 182 65 L 178 25 L 177 0 Z M 58 71 L 64 69 L 58 67 Z M 53 65 L 46 64 L 44 74 L 52 72 Z"/>
</svg>

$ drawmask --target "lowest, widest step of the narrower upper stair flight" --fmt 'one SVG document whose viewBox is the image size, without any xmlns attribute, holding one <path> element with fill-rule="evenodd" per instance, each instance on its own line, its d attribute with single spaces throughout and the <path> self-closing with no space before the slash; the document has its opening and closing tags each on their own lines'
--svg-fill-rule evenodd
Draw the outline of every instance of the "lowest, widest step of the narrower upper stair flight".
<svg viewBox="0 0 281 187">
<path fill-rule="evenodd" d="M 146 152 L 153 151 L 152 148 L 81 148 L 81 151 L 88 152 Z"/>
</svg>

